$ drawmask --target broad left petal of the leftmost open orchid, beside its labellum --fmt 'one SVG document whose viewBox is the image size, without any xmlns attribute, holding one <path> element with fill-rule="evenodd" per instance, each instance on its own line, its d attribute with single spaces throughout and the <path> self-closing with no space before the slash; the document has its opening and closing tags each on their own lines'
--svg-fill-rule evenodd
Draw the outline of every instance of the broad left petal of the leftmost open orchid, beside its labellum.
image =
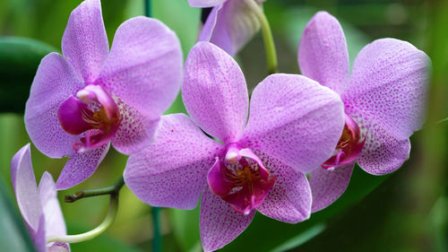
<svg viewBox="0 0 448 252">
<path fill-rule="evenodd" d="M 57 120 L 60 104 L 83 87 L 73 66 L 56 53 L 45 56 L 31 85 L 25 108 L 25 126 L 31 141 L 50 158 L 73 153 L 76 135 L 64 131 Z"/>
</svg>

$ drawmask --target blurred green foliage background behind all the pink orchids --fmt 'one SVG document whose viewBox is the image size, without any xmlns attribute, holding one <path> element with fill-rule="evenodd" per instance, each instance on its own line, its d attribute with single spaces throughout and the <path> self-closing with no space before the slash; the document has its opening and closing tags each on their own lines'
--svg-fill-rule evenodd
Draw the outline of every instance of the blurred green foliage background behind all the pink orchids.
<svg viewBox="0 0 448 252">
<path fill-rule="evenodd" d="M 13 197 L 9 163 L 30 142 L 23 110 L 40 59 L 60 51 L 68 16 L 80 0 L 0 1 L 0 248 L 28 251 Z M 104 0 L 103 18 L 112 41 L 126 19 L 141 15 L 142 0 Z M 181 40 L 184 56 L 194 45 L 201 11 L 186 0 L 153 0 L 152 15 L 168 24 Z M 448 251 L 448 1 L 271 0 L 264 4 L 279 56 L 280 72 L 299 73 L 298 39 L 316 11 L 341 22 L 350 60 L 374 39 L 408 40 L 432 59 L 431 94 L 426 125 L 411 137 L 409 161 L 388 176 L 375 177 L 358 167 L 347 192 L 327 209 L 295 225 L 256 214 L 249 228 L 220 251 Z M 13 36 L 13 37 L 11 37 Z M 28 38 L 28 39 L 24 39 Z M 266 76 L 260 34 L 237 56 L 249 89 Z M 185 111 L 179 99 L 167 113 Z M 31 150 L 36 177 L 44 170 L 57 178 L 65 160 L 51 160 Z M 108 197 L 65 204 L 63 196 L 80 189 L 108 187 L 122 174 L 126 157 L 108 153 L 95 174 L 59 193 L 68 233 L 91 230 L 102 221 Z M 163 251 L 202 251 L 198 208 L 162 210 Z M 112 227 L 97 239 L 73 244 L 73 251 L 151 251 L 151 208 L 126 187 Z"/>
</svg>

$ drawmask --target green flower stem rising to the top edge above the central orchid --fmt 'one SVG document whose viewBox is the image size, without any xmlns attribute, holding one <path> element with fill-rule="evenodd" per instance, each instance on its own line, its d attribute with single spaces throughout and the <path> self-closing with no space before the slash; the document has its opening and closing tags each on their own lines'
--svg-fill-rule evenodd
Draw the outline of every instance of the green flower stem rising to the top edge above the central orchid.
<svg viewBox="0 0 448 252">
<path fill-rule="evenodd" d="M 263 9 L 254 0 L 244 0 L 247 6 L 254 11 L 256 18 L 262 26 L 264 50 L 266 51 L 266 63 L 268 73 L 277 73 L 277 53 L 275 52 L 274 39 L 272 38 L 271 26 L 263 13 Z"/>
</svg>

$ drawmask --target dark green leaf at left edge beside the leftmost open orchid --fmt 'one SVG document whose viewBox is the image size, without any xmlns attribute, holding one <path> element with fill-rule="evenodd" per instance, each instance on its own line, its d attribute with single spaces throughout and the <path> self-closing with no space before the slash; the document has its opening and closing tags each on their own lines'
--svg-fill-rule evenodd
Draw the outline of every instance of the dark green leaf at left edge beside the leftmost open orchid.
<svg viewBox="0 0 448 252">
<path fill-rule="evenodd" d="M 24 111 L 39 62 L 54 51 L 35 39 L 0 38 L 0 112 Z"/>
</svg>

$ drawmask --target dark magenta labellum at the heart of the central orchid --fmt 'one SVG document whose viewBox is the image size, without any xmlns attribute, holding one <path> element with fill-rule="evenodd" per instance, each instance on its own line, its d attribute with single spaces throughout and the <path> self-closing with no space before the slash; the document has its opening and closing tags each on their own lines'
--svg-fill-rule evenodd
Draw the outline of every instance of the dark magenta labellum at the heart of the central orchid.
<svg viewBox="0 0 448 252">
<path fill-rule="evenodd" d="M 248 153 L 248 154 L 247 154 Z M 211 192 L 232 205 L 238 213 L 250 213 L 263 203 L 276 177 L 249 149 L 228 146 L 224 161 L 217 161 L 207 177 Z"/>
</svg>

